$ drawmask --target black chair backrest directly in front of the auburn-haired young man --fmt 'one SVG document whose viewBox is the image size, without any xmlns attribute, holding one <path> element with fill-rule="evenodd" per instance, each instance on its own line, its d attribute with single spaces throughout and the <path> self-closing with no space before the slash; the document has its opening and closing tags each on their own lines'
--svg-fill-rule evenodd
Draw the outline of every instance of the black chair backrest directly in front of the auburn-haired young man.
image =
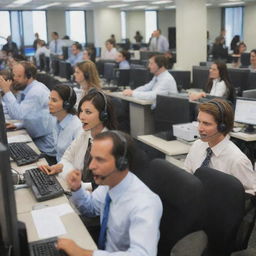
<svg viewBox="0 0 256 256">
<path fill-rule="evenodd" d="M 208 167 L 197 169 L 195 176 L 204 188 L 207 251 L 209 255 L 230 255 L 235 249 L 237 231 L 244 216 L 243 185 L 237 178 Z"/>
</svg>

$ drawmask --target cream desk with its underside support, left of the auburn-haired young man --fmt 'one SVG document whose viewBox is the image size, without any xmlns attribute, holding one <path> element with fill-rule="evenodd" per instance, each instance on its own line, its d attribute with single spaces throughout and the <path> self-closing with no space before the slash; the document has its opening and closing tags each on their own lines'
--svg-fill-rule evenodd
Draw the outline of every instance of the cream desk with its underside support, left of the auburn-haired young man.
<svg viewBox="0 0 256 256">
<path fill-rule="evenodd" d="M 138 136 L 137 139 L 163 152 L 165 154 L 165 159 L 168 162 L 171 162 L 180 168 L 184 168 L 184 157 L 179 157 L 179 155 L 187 154 L 191 144 L 187 144 L 178 140 L 166 141 L 154 135 L 142 135 Z"/>
</svg>

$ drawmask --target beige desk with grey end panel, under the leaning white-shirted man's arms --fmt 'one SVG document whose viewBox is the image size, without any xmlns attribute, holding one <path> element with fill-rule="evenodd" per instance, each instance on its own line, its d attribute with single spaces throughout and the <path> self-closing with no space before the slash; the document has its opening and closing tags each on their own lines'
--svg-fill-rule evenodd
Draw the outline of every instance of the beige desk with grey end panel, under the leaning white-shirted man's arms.
<svg viewBox="0 0 256 256">
<path fill-rule="evenodd" d="M 151 110 L 153 101 L 124 96 L 121 92 L 106 92 L 106 94 L 129 102 L 130 128 L 131 135 L 134 138 L 154 132 L 154 120 Z"/>
</svg>

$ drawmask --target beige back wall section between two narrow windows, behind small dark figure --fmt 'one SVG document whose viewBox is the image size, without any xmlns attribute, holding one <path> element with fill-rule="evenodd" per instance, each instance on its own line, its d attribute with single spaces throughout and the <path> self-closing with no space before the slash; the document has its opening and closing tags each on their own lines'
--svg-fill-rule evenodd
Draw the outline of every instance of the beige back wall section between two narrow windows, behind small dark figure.
<svg viewBox="0 0 256 256">
<path fill-rule="evenodd" d="M 140 31 L 145 40 L 145 14 L 144 11 L 127 11 L 126 12 L 126 35 L 134 43 L 135 32 Z"/>
</svg>

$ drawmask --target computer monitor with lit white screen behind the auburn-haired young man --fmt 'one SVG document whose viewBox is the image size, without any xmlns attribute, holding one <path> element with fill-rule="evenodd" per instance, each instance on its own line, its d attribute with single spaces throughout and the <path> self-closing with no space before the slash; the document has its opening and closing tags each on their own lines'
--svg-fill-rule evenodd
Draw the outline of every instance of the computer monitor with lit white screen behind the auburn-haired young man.
<svg viewBox="0 0 256 256">
<path fill-rule="evenodd" d="M 246 124 L 245 133 L 256 133 L 256 99 L 236 99 L 235 122 Z"/>
</svg>

